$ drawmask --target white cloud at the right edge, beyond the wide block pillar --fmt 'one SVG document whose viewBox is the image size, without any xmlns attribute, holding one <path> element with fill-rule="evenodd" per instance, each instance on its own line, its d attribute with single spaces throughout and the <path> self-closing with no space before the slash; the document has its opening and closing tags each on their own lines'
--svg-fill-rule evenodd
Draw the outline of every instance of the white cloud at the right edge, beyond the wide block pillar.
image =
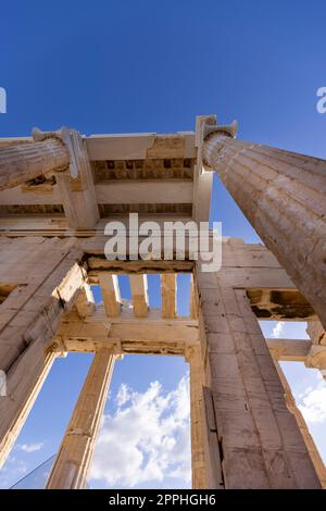
<svg viewBox="0 0 326 511">
<path fill-rule="evenodd" d="M 315 388 L 308 387 L 299 396 L 298 408 L 308 423 L 326 421 L 326 385 L 324 379 L 321 379 Z"/>
</svg>

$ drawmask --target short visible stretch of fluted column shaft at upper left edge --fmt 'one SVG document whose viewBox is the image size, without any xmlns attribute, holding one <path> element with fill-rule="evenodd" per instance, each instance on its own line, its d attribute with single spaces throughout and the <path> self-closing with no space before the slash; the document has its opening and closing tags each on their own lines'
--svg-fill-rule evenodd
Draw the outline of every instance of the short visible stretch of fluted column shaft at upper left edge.
<svg viewBox="0 0 326 511">
<path fill-rule="evenodd" d="M 0 190 L 13 188 L 51 171 L 70 165 L 65 145 L 59 138 L 0 148 Z"/>
</svg>

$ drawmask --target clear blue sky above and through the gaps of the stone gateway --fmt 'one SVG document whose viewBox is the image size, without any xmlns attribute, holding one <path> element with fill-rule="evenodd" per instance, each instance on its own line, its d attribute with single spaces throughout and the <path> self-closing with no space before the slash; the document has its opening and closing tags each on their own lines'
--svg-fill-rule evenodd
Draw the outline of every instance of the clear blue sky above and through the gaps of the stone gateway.
<svg viewBox="0 0 326 511">
<path fill-rule="evenodd" d="M 326 114 L 316 111 L 316 90 L 326 85 L 322 0 L 29 0 L 2 2 L 0 18 L 0 87 L 8 95 L 0 136 L 62 125 L 85 134 L 171 133 L 193 129 L 197 114 L 216 113 L 222 123 L 238 120 L 240 138 L 326 158 Z M 224 235 L 258 241 L 217 178 L 211 220 L 223 222 Z M 128 287 L 121 285 L 127 298 Z M 178 285 L 186 313 L 186 277 Z M 151 306 L 158 300 L 152 278 Z M 274 327 L 264 327 L 266 335 Z M 302 325 L 297 328 L 302 336 Z M 55 362 L 0 484 L 54 452 L 89 363 L 90 356 L 82 354 Z M 312 370 L 303 373 L 293 364 L 287 371 L 293 388 L 303 378 L 305 388 L 319 385 Z M 179 359 L 125 358 L 116 365 L 105 413 L 117 416 L 122 384 L 134 390 L 122 407 L 133 409 L 137 392 L 158 381 L 163 389 L 155 388 L 154 399 L 170 396 L 165 413 L 176 416 L 172 392 L 186 372 Z M 163 420 L 156 417 L 160 427 Z M 311 427 L 323 443 L 321 421 Z M 30 445 L 35 449 L 27 452 Z M 171 473 L 166 469 L 158 484 L 187 486 L 185 478 L 172 482 Z"/>
</svg>

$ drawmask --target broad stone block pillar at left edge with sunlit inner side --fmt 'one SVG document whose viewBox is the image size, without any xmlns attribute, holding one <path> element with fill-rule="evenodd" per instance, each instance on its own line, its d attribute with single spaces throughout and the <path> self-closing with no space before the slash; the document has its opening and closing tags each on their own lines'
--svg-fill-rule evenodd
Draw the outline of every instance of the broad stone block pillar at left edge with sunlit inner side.
<svg viewBox="0 0 326 511">
<path fill-rule="evenodd" d="M 1 304 L 0 466 L 4 463 L 41 389 L 55 353 L 48 348 L 61 317 L 85 286 L 83 251 L 74 240 L 2 238 L 0 279 L 17 286 Z"/>
</svg>

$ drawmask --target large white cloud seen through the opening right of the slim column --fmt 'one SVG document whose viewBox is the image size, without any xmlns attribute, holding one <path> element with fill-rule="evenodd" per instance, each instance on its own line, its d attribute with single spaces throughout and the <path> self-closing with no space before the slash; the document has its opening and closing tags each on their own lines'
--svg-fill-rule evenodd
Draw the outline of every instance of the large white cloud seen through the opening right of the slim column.
<svg viewBox="0 0 326 511">
<path fill-rule="evenodd" d="M 135 487 L 164 482 L 190 482 L 189 382 L 164 394 L 159 382 L 145 392 L 120 387 L 117 410 L 105 415 L 90 479 L 109 486 Z"/>
</svg>

